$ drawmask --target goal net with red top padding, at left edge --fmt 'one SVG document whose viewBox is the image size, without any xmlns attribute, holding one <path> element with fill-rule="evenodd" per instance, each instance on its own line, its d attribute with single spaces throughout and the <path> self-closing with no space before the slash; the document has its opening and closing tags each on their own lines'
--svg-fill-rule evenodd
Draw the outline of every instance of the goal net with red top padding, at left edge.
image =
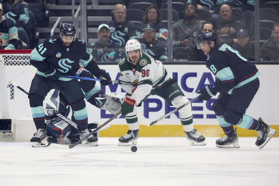
<svg viewBox="0 0 279 186">
<path fill-rule="evenodd" d="M 27 92 L 36 73 L 30 65 L 32 50 L 0 50 L 0 118 L 32 119 L 28 96 L 8 83 L 12 80 Z"/>
</svg>

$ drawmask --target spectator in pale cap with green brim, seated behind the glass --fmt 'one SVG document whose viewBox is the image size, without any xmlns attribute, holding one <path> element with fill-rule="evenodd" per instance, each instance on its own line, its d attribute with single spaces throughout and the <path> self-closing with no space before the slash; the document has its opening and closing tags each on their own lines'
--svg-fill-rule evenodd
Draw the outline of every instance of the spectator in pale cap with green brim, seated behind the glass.
<svg viewBox="0 0 279 186">
<path fill-rule="evenodd" d="M 107 24 L 98 27 L 97 35 L 99 39 L 88 49 L 95 61 L 120 61 L 125 57 L 125 51 L 120 49 L 119 44 L 109 39 L 110 27 Z"/>
</svg>

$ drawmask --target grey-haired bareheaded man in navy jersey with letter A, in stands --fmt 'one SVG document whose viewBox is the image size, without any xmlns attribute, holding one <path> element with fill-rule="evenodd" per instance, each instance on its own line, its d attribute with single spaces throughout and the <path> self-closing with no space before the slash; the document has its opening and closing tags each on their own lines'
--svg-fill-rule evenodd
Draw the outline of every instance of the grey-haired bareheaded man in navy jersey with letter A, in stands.
<svg viewBox="0 0 279 186">
<path fill-rule="evenodd" d="M 135 25 L 125 19 L 126 10 L 125 5 L 115 5 L 113 13 L 115 20 L 108 22 L 111 32 L 110 39 L 117 42 L 120 47 L 124 47 L 130 37 L 136 36 Z"/>
</svg>

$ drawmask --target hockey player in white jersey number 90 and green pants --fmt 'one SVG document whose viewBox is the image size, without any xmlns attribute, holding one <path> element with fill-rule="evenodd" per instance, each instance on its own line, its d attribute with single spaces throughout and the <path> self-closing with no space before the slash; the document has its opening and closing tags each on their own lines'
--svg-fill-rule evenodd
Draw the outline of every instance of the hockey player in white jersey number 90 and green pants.
<svg viewBox="0 0 279 186">
<path fill-rule="evenodd" d="M 126 57 L 118 66 L 119 85 L 127 92 L 121 108 L 129 130 L 119 138 L 119 146 L 137 144 L 139 122 L 135 106 L 141 105 L 148 96 L 158 95 L 176 108 L 188 102 L 176 79 L 169 77 L 162 63 L 142 53 L 140 42 L 136 39 L 128 40 L 125 50 Z M 181 108 L 179 117 L 190 144 L 205 145 L 205 137 L 199 135 L 193 127 L 191 105 Z"/>
</svg>

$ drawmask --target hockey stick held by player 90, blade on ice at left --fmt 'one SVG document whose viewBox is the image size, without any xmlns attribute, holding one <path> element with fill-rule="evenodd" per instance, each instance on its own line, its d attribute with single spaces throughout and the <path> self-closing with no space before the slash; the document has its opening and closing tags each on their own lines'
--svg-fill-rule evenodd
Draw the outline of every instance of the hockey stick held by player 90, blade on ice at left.
<svg viewBox="0 0 279 186">
<path fill-rule="evenodd" d="M 91 133 L 85 135 L 83 138 L 81 138 L 78 142 L 74 143 L 74 144 L 70 144 L 70 145 L 62 145 L 62 144 L 55 144 L 52 143 L 49 146 L 53 147 L 53 148 L 61 148 L 61 149 L 71 149 L 74 146 L 76 146 L 77 144 L 79 144 L 80 142 L 82 142 L 83 140 L 86 140 L 90 135 L 99 132 L 101 130 L 105 130 L 107 128 L 110 127 L 110 125 L 108 124 L 110 121 L 112 121 L 113 119 L 115 119 L 117 116 L 119 116 L 122 113 L 122 110 L 120 110 L 119 112 L 116 113 L 116 115 L 114 115 L 112 118 L 110 118 L 108 121 L 106 121 L 105 123 L 103 123 L 101 126 L 99 126 L 98 128 L 96 128 L 95 130 L 93 130 Z"/>
</svg>

